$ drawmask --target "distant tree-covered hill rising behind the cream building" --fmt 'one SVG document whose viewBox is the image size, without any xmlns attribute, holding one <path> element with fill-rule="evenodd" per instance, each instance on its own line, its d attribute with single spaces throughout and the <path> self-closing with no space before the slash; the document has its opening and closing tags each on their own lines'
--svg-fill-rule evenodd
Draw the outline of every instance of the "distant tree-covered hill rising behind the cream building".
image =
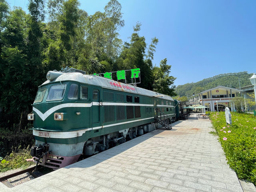
<svg viewBox="0 0 256 192">
<path fill-rule="evenodd" d="M 200 93 L 204 90 L 208 90 L 217 86 L 225 86 L 230 88 L 239 88 L 252 85 L 249 78 L 252 74 L 248 74 L 247 71 L 238 73 L 226 73 L 219 74 L 214 77 L 203 79 L 196 83 L 187 83 L 184 85 L 178 85 L 175 92 L 178 96 L 190 97 L 192 94 Z M 240 85 L 239 85 L 240 82 Z"/>
</svg>

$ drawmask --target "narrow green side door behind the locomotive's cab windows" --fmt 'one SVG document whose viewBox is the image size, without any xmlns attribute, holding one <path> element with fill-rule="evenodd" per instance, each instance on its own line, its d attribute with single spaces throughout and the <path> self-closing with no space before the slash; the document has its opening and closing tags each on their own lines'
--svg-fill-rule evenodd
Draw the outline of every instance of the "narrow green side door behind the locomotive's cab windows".
<svg viewBox="0 0 256 192">
<path fill-rule="evenodd" d="M 92 126 L 100 126 L 100 91 L 93 89 L 92 91 Z"/>
</svg>

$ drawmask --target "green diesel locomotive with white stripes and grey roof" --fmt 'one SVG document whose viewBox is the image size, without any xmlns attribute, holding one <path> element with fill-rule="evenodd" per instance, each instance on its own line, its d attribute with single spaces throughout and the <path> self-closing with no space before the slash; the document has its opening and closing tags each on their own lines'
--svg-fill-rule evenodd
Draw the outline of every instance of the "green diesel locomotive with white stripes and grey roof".
<svg viewBox="0 0 256 192">
<path fill-rule="evenodd" d="M 157 92 L 80 72 L 46 77 L 28 114 L 36 140 L 30 154 L 43 166 L 62 168 L 152 131 L 156 111 L 168 121 L 176 116 L 174 100 Z"/>
</svg>

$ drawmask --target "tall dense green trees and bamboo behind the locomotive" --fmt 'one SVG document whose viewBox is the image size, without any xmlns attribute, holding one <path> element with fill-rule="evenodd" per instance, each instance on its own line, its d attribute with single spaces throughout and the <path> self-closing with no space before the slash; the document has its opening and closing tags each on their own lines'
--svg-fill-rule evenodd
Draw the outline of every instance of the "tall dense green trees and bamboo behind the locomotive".
<svg viewBox="0 0 256 192">
<path fill-rule="evenodd" d="M 158 39 L 147 45 L 139 22 L 129 42 L 119 38 L 125 21 L 117 0 L 93 15 L 79 5 L 78 0 L 29 0 L 24 12 L 0 0 L 0 156 L 31 141 L 31 131 L 24 132 L 32 127 L 27 114 L 49 70 L 68 66 L 98 74 L 140 68 L 138 86 L 175 95 L 167 59 L 163 56 L 159 67 L 152 64 Z"/>
</svg>

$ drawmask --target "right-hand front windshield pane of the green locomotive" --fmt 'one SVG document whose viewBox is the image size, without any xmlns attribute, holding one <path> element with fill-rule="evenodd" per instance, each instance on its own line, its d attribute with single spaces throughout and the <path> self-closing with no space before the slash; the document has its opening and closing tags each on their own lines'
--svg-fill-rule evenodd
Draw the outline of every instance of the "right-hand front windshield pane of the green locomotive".
<svg viewBox="0 0 256 192">
<path fill-rule="evenodd" d="M 66 86 L 67 84 L 52 85 L 46 100 L 61 100 L 64 97 Z"/>
</svg>

